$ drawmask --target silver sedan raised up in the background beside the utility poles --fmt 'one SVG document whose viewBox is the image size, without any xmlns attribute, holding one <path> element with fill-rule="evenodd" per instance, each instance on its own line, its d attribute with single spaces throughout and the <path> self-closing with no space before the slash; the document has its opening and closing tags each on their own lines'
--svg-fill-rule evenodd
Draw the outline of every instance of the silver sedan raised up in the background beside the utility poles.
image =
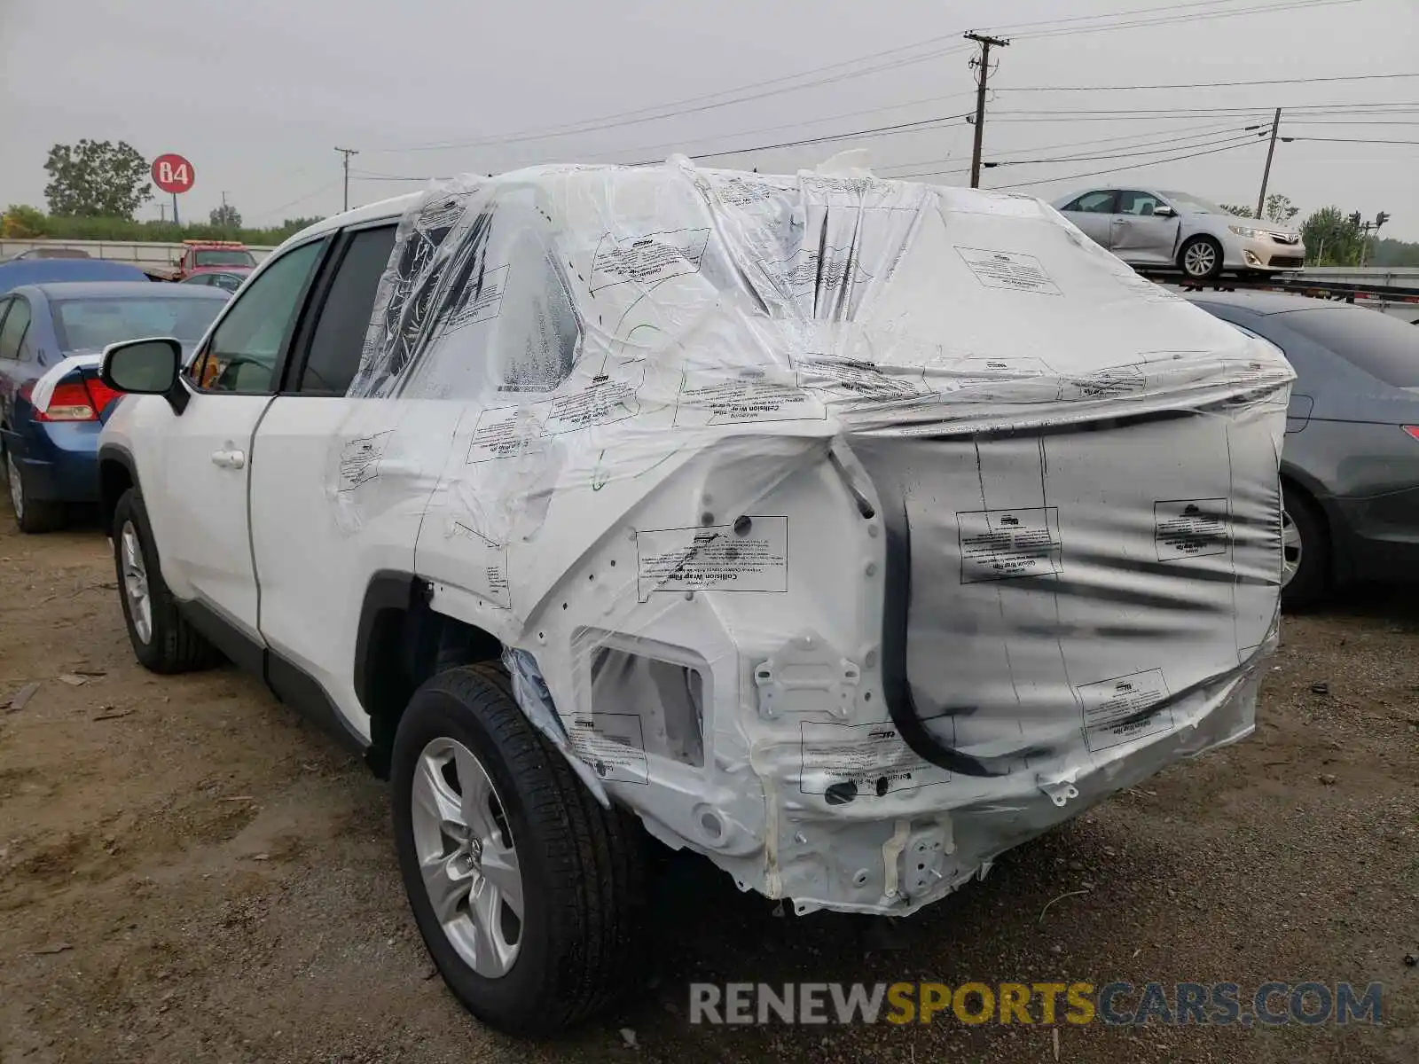
<svg viewBox="0 0 1419 1064">
<path fill-rule="evenodd" d="M 1107 186 L 1066 196 L 1054 207 L 1131 267 L 1176 268 L 1205 281 L 1223 271 L 1270 274 L 1305 265 L 1297 230 L 1230 214 L 1183 192 Z"/>
</svg>

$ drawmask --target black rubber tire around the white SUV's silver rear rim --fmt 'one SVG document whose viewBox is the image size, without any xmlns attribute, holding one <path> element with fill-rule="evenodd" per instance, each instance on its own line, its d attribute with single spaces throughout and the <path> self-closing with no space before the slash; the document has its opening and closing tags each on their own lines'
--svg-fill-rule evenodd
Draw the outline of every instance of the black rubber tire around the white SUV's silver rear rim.
<svg viewBox="0 0 1419 1064">
<path fill-rule="evenodd" d="M 481 762 L 502 803 L 522 874 L 524 919 L 508 972 L 485 977 L 434 915 L 413 829 L 413 783 L 430 742 L 454 739 Z M 404 890 L 444 983 L 478 1020 L 551 1034 L 609 1006 L 636 983 L 644 909 L 644 836 L 603 809 L 512 698 L 491 665 L 429 680 L 399 721 L 390 765 L 394 844 Z"/>
</svg>

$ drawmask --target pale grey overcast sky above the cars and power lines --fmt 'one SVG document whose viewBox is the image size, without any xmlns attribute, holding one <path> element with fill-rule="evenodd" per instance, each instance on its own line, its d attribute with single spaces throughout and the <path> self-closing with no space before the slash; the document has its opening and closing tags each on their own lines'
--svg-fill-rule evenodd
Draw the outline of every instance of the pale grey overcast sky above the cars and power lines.
<svg viewBox="0 0 1419 1064">
<path fill-rule="evenodd" d="M 1097 28 L 1158 18 L 1174 21 Z M 1283 136 L 1410 142 L 1277 145 L 1270 190 L 1297 221 L 1325 204 L 1385 210 L 1385 235 L 1419 240 L 1419 77 L 1374 77 L 1419 74 L 1419 0 L 0 0 L 0 206 L 43 206 L 50 145 L 79 138 L 184 155 L 183 217 L 206 218 L 226 192 L 247 224 L 338 211 L 336 145 L 360 152 L 352 206 L 419 187 L 368 174 L 643 162 L 902 125 L 707 162 L 795 170 L 866 148 L 878 173 L 966 184 L 952 170 L 971 160 L 969 28 L 1013 38 L 990 79 L 985 157 L 1016 165 L 986 170 L 986 187 L 1054 199 L 1137 183 L 1254 204 L 1266 143 L 1244 126 L 1294 108 Z M 1369 77 L 1059 91 L 1354 75 Z M 1086 109 L 1128 113 L 1047 113 Z M 566 126 L 582 131 L 548 135 Z M 1117 172 L 1074 176 L 1100 170 Z"/>
</svg>

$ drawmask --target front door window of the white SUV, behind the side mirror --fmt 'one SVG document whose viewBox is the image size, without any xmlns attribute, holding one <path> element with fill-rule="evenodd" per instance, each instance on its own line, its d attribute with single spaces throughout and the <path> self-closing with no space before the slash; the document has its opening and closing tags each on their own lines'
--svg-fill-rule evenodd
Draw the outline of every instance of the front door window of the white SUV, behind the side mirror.
<svg viewBox="0 0 1419 1064">
<path fill-rule="evenodd" d="M 193 363 L 197 387 L 241 394 L 274 390 L 277 359 L 324 247 L 324 240 L 314 240 L 287 251 L 234 299 Z"/>
</svg>

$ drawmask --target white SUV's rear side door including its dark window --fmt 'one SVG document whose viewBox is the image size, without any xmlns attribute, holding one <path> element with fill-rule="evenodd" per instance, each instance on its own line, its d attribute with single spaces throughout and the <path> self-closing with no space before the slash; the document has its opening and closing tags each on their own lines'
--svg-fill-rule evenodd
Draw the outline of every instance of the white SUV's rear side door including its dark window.
<svg viewBox="0 0 1419 1064">
<path fill-rule="evenodd" d="M 396 224 L 370 223 L 336 240 L 257 431 L 251 468 L 260 626 L 278 658 L 270 682 L 282 698 L 308 702 L 305 691 L 289 689 L 301 682 L 287 667 L 294 665 L 366 735 L 353 687 L 360 604 L 373 572 L 413 572 L 429 495 L 427 482 L 390 451 L 404 406 L 345 396 Z"/>
</svg>

